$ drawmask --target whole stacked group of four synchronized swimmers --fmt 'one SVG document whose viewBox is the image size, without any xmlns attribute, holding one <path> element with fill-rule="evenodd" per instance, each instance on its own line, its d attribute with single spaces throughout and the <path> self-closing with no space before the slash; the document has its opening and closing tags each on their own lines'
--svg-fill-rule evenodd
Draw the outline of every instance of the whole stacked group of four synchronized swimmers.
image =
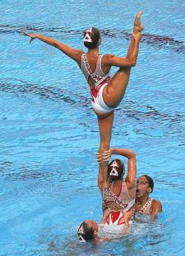
<svg viewBox="0 0 185 256">
<path fill-rule="evenodd" d="M 103 217 L 99 225 L 94 220 L 81 223 L 77 231 L 81 241 L 97 243 L 99 240 L 109 240 L 100 235 L 101 232 L 104 233 L 106 226 L 119 227 L 120 236 L 127 234 L 129 223 L 136 212 L 150 215 L 151 220 L 155 220 L 157 214 L 162 211 L 160 201 L 149 197 L 154 187 L 152 178 L 143 175 L 136 181 L 136 154 L 129 149 L 110 149 L 114 109 L 123 100 L 131 69 L 136 65 L 139 52 L 141 31 L 144 29 L 141 14 L 142 12 L 136 14 L 132 39 L 125 58 L 99 54 L 102 39 L 99 30 L 95 27 L 91 27 L 84 33 L 86 53 L 53 38 L 23 31 L 24 36 L 30 37 L 30 42 L 39 39 L 75 60 L 90 88 L 91 107 L 95 111 L 99 125 L 98 186 L 103 197 Z M 113 78 L 109 74 L 112 66 L 118 67 Z M 114 159 L 109 163 L 112 154 L 127 158 L 127 177 L 124 180 L 124 164 L 120 159 Z"/>
</svg>

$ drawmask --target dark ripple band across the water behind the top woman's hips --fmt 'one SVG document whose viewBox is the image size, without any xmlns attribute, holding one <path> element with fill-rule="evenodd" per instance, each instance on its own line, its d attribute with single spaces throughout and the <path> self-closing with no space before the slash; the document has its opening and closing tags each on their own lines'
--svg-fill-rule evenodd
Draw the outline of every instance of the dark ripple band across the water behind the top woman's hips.
<svg viewBox="0 0 185 256">
<path fill-rule="evenodd" d="M 44 99 L 54 102 L 67 102 L 75 107 L 86 107 L 90 110 L 90 99 L 81 95 L 81 92 L 74 93 L 62 88 L 55 88 L 47 85 L 35 85 L 34 83 L 27 83 L 23 80 L 2 79 L 0 80 L 0 92 L 8 92 L 15 94 L 23 94 L 26 97 L 29 93 Z M 82 104 L 81 104 L 82 102 Z M 185 115 L 179 113 L 162 112 L 157 110 L 154 106 L 139 105 L 136 102 L 126 101 L 124 107 L 118 107 L 118 116 L 127 116 L 128 118 L 135 119 L 137 122 L 144 120 L 158 121 L 161 126 L 168 128 L 168 133 L 175 127 L 178 129 L 178 135 L 183 134 L 183 122 L 185 122 Z M 176 127 L 176 126 L 178 127 Z M 164 128 L 163 127 L 163 128 Z"/>
</svg>

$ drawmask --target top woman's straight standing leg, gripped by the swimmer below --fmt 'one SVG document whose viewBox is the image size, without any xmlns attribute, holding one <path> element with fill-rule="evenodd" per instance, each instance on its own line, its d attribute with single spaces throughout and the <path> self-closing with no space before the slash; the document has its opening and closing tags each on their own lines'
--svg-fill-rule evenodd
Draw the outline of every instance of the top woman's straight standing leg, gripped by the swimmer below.
<svg viewBox="0 0 185 256">
<path fill-rule="evenodd" d="M 104 118 L 98 117 L 98 123 L 100 137 L 99 153 L 103 153 L 104 151 L 109 150 L 110 146 L 113 128 L 113 112 L 111 112 L 109 116 L 106 116 Z M 104 187 L 108 187 L 108 164 L 109 162 L 102 162 L 101 164 L 99 164 L 103 176 Z"/>
</svg>

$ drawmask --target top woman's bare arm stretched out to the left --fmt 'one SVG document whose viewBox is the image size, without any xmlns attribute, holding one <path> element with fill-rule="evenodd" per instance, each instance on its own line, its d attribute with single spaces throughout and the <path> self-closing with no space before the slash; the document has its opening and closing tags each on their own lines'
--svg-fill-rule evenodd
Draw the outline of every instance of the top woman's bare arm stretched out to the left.
<svg viewBox="0 0 185 256">
<path fill-rule="evenodd" d="M 40 34 L 29 34 L 25 31 L 22 32 L 24 36 L 30 37 L 30 42 L 35 39 L 39 39 L 43 41 L 44 43 L 48 45 L 52 45 L 53 47 L 57 48 L 58 50 L 61 50 L 62 53 L 67 55 L 69 58 L 74 59 L 78 64 L 81 61 L 81 55 L 83 54 L 83 51 L 76 50 L 68 45 L 65 45 L 58 40 L 54 40 L 53 38 L 50 38 L 48 36 L 42 36 Z"/>
</svg>

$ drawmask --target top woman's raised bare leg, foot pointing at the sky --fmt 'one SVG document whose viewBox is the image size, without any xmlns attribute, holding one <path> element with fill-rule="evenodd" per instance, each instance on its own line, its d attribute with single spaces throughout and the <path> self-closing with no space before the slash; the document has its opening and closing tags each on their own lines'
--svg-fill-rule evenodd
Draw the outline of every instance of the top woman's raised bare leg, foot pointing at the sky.
<svg viewBox="0 0 185 256">
<path fill-rule="evenodd" d="M 132 33 L 133 36 L 138 33 L 141 33 L 141 31 L 144 29 L 144 26 L 141 24 L 140 20 L 141 14 L 142 12 L 138 12 L 136 14 Z M 139 41 L 136 42 L 133 36 L 127 51 L 127 58 L 134 56 L 134 58 L 137 59 L 137 55 L 139 52 Z M 114 74 L 109 85 L 107 85 L 104 88 L 104 102 L 109 107 L 117 107 L 118 104 L 123 100 L 124 94 L 127 89 L 127 84 L 130 78 L 130 73 L 131 67 L 118 69 L 118 72 Z"/>
</svg>

